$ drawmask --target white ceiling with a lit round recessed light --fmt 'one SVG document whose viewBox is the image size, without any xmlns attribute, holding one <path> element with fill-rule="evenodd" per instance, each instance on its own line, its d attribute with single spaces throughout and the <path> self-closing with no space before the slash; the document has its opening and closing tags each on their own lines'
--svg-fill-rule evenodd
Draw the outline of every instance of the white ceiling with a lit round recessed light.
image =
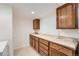
<svg viewBox="0 0 79 59">
<path fill-rule="evenodd" d="M 5 4 L 13 7 L 14 17 L 26 17 L 26 18 L 42 18 L 48 14 L 53 14 L 54 10 L 62 5 L 62 3 L 16 3 Z M 31 14 L 31 12 L 35 14 Z"/>
</svg>

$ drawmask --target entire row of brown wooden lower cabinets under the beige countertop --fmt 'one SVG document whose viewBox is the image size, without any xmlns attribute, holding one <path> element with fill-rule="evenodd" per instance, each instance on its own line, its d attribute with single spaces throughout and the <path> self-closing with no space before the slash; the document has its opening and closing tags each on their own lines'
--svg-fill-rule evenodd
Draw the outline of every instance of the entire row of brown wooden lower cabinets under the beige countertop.
<svg viewBox="0 0 79 59">
<path fill-rule="evenodd" d="M 75 50 L 63 45 L 30 35 L 30 45 L 42 56 L 73 56 Z"/>
</svg>

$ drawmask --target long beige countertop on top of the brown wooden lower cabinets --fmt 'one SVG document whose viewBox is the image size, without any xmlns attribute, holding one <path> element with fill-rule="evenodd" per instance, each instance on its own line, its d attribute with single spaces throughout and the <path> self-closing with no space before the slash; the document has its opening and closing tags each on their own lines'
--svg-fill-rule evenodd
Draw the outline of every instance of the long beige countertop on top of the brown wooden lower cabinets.
<svg viewBox="0 0 79 59">
<path fill-rule="evenodd" d="M 64 46 L 72 48 L 74 50 L 76 50 L 76 47 L 78 44 L 78 40 L 75 38 L 69 38 L 69 37 L 63 37 L 63 36 L 58 38 L 58 36 L 45 35 L 45 34 L 31 34 L 31 35 L 64 45 Z"/>
</svg>

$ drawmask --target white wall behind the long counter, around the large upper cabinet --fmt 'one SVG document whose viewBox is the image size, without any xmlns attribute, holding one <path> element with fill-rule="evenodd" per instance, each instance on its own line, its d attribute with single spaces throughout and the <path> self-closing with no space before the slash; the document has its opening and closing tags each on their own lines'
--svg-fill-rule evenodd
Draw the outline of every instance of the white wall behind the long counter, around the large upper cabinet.
<svg viewBox="0 0 79 59">
<path fill-rule="evenodd" d="M 78 11 L 79 14 L 79 11 Z M 41 28 L 40 33 L 43 34 L 50 34 L 50 35 L 57 35 L 60 34 L 62 36 L 67 37 L 75 37 L 79 39 L 79 29 L 71 30 L 71 29 L 63 29 L 58 30 L 56 29 L 56 9 L 52 10 L 52 14 L 48 14 L 46 17 L 41 18 Z M 79 18 L 78 18 L 78 26 L 79 26 Z"/>
</svg>

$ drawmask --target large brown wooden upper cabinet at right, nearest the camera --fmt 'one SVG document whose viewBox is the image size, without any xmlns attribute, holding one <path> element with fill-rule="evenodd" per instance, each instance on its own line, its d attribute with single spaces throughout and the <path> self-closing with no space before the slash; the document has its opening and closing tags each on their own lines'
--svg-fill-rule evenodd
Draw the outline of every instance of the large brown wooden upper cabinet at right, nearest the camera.
<svg viewBox="0 0 79 59">
<path fill-rule="evenodd" d="M 67 3 L 56 9 L 57 29 L 77 29 L 77 4 Z"/>
</svg>

